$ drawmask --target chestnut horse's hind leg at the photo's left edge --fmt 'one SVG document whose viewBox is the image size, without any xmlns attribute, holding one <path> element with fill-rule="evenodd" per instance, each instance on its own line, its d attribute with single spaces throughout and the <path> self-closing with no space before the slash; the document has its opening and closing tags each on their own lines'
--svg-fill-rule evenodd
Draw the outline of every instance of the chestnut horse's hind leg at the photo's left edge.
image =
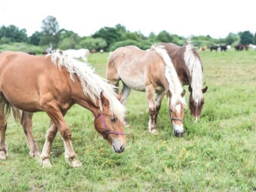
<svg viewBox="0 0 256 192">
<path fill-rule="evenodd" d="M 0 159 L 6 159 L 7 157 L 7 147 L 5 142 L 5 134 L 7 128 L 7 121 L 5 115 L 6 99 L 3 94 L 0 93 L 0 132 L 1 132 L 1 143 L 0 143 Z"/>
</svg>

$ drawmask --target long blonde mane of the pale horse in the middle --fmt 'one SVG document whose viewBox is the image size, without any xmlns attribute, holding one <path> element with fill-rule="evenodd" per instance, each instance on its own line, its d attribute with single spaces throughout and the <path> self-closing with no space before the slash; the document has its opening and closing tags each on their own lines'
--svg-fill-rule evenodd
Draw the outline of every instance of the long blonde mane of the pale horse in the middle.
<svg viewBox="0 0 256 192">
<path fill-rule="evenodd" d="M 177 75 L 175 67 L 173 66 L 172 60 L 169 57 L 166 49 L 163 45 L 152 45 L 151 50 L 155 50 L 158 55 L 163 59 L 166 64 L 165 76 L 169 82 L 169 89 L 172 92 L 172 107 L 175 108 L 178 102 L 182 103 L 186 107 L 185 97 L 182 97 L 180 93 L 183 91 L 183 87 L 180 83 L 180 79 Z"/>
</svg>

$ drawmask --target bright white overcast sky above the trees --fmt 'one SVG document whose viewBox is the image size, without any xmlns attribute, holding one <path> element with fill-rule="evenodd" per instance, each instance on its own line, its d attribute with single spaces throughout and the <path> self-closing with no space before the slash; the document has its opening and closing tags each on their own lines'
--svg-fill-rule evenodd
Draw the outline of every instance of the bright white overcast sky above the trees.
<svg viewBox="0 0 256 192">
<path fill-rule="evenodd" d="M 255 0 L 1 0 L 0 26 L 14 24 L 27 34 L 41 31 L 41 21 L 52 15 L 60 29 L 80 36 L 103 26 L 121 23 L 128 30 L 158 34 L 211 35 L 256 32 Z"/>
</svg>

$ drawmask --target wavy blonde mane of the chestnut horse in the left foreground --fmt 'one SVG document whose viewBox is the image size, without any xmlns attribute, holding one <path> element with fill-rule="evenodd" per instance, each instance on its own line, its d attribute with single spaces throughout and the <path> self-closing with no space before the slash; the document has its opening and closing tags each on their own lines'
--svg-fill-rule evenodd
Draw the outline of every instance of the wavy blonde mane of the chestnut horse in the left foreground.
<svg viewBox="0 0 256 192">
<path fill-rule="evenodd" d="M 96 99 L 100 98 L 100 93 L 108 99 L 111 115 L 122 120 L 125 115 L 125 107 L 116 98 L 115 86 L 108 84 L 102 77 L 94 73 L 93 68 L 85 63 L 65 57 L 57 50 L 48 54 L 51 56 L 52 63 L 60 70 L 64 67 L 70 73 L 70 79 L 74 82 L 76 75 L 83 88 L 84 95 L 88 96 L 96 104 Z"/>
</svg>

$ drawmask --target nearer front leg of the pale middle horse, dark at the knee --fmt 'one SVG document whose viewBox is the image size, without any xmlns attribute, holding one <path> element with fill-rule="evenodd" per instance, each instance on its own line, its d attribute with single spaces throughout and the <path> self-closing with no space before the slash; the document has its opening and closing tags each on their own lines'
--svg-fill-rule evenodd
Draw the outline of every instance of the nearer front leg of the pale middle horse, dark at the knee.
<svg viewBox="0 0 256 192">
<path fill-rule="evenodd" d="M 148 131 L 152 134 L 157 134 L 157 127 L 155 124 L 155 115 L 156 115 L 156 104 L 154 99 L 154 87 L 152 84 L 146 86 L 146 96 L 148 99 Z"/>
</svg>

